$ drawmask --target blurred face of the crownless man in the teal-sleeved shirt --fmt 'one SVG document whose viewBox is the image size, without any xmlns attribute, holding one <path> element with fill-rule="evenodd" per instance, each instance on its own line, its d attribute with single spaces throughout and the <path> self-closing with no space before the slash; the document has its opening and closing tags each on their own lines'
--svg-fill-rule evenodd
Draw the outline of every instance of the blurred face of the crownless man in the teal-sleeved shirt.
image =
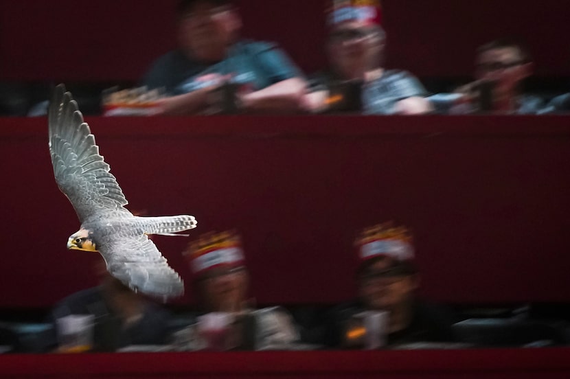
<svg viewBox="0 0 570 379">
<path fill-rule="evenodd" d="M 181 17 L 179 43 L 198 60 L 222 60 L 240 26 L 238 14 L 229 6 L 198 1 Z"/>
</svg>

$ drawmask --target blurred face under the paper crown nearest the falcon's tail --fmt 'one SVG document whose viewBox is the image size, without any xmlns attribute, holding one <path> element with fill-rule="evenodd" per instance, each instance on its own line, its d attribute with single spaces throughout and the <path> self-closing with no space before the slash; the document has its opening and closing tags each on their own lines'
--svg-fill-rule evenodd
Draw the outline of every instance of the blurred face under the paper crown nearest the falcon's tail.
<svg viewBox="0 0 570 379">
<path fill-rule="evenodd" d="M 200 279 L 202 296 L 209 311 L 240 310 L 247 295 L 248 277 L 244 267 L 214 268 Z"/>
</svg>

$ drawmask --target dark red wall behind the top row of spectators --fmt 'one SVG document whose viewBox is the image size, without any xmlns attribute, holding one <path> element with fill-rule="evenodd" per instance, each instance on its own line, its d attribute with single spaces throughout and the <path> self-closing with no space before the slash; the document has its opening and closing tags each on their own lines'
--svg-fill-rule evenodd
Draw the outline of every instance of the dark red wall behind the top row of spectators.
<svg viewBox="0 0 570 379">
<path fill-rule="evenodd" d="M 0 2 L 0 79 L 137 80 L 174 46 L 173 5 L 155 0 Z M 240 0 L 244 35 L 281 43 L 301 67 L 326 62 L 324 0 Z M 540 76 L 569 76 L 566 0 L 383 0 L 388 65 L 465 76 L 475 47 L 522 36 Z"/>
</svg>

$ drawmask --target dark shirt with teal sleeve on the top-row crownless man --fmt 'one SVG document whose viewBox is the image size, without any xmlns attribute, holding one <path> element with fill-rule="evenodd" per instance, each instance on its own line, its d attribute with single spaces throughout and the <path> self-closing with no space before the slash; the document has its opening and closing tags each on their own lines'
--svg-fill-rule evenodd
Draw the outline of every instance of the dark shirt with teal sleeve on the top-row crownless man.
<svg viewBox="0 0 570 379">
<path fill-rule="evenodd" d="M 170 51 L 152 64 L 142 85 L 149 89 L 164 88 L 170 95 L 180 95 L 209 85 L 196 81 L 207 74 L 231 74 L 231 81 L 253 91 L 282 80 L 301 76 L 301 71 L 273 43 L 239 41 L 229 48 L 220 62 L 192 60 L 180 50 Z"/>
</svg>

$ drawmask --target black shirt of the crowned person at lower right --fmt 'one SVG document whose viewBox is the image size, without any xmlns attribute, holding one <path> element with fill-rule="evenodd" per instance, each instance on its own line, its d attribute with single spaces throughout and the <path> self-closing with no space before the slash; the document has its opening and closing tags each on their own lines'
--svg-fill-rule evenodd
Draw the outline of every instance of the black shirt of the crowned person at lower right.
<svg viewBox="0 0 570 379">
<path fill-rule="evenodd" d="M 328 317 L 325 345 L 342 347 L 347 321 L 364 310 L 360 303 L 348 303 L 334 308 Z M 444 308 L 416 300 L 412 305 L 411 322 L 407 328 L 388 334 L 386 345 L 391 347 L 418 342 L 457 342 L 452 329 L 454 321 Z"/>
</svg>

